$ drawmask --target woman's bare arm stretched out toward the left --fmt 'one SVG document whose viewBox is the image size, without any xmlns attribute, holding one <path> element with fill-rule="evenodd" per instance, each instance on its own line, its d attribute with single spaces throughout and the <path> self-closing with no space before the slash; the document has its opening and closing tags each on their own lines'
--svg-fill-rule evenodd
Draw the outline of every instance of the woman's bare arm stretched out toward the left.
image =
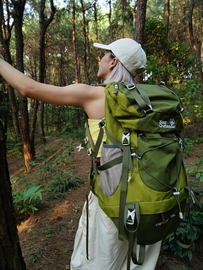
<svg viewBox="0 0 203 270">
<path fill-rule="evenodd" d="M 39 83 L 24 75 L 1 58 L 0 74 L 8 84 L 25 97 L 57 105 L 81 106 L 87 113 L 92 105 L 99 105 L 104 98 L 102 87 L 86 84 L 72 84 L 60 87 Z"/>
</svg>

